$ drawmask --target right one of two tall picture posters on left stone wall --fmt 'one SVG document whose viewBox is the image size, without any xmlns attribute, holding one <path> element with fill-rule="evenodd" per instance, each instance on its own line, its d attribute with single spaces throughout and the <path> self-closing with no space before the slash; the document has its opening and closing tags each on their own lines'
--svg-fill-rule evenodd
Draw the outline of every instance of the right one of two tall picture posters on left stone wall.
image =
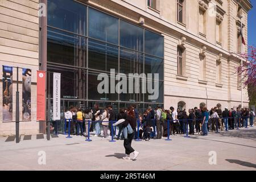
<svg viewBox="0 0 256 182">
<path fill-rule="evenodd" d="M 31 69 L 22 69 L 22 121 L 31 121 Z"/>
</svg>

